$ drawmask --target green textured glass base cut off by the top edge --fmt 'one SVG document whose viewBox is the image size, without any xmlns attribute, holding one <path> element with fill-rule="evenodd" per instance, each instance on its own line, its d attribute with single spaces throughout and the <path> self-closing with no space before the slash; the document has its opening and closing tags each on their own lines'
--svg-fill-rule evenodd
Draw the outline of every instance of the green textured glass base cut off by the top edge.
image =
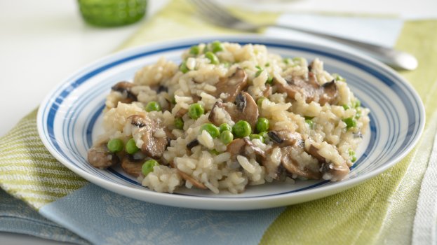
<svg viewBox="0 0 437 245">
<path fill-rule="evenodd" d="M 144 17 L 147 0 L 78 0 L 83 20 L 90 25 L 116 27 Z"/>
</svg>

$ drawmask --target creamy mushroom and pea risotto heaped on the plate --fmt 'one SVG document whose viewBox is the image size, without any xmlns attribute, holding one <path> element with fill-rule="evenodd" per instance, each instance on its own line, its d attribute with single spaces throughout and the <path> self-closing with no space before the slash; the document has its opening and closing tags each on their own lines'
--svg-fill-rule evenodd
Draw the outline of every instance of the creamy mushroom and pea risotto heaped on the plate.
<svg viewBox="0 0 437 245">
<path fill-rule="evenodd" d="M 369 110 L 321 60 L 219 41 L 182 60 L 161 58 L 112 87 L 91 165 L 121 165 L 166 193 L 347 176 Z"/>
</svg>

